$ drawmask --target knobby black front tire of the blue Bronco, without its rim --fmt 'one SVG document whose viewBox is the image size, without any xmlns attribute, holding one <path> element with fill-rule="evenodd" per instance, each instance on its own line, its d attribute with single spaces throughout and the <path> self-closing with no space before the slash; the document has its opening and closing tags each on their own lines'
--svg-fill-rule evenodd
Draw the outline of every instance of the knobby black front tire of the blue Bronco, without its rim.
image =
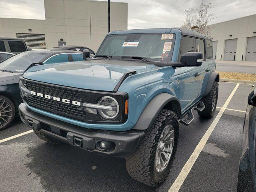
<svg viewBox="0 0 256 192">
<path fill-rule="evenodd" d="M 169 124 L 174 128 L 174 147 L 168 165 L 159 173 L 155 168 L 156 149 L 162 130 Z M 170 110 L 161 110 L 151 128 L 146 130 L 144 139 L 136 152 L 126 157 L 126 169 L 130 176 L 148 186 L 158 186 L 162 183 L 172 167 L 178 146 L 178 135 L 177 115 Z"/>
</svg>

